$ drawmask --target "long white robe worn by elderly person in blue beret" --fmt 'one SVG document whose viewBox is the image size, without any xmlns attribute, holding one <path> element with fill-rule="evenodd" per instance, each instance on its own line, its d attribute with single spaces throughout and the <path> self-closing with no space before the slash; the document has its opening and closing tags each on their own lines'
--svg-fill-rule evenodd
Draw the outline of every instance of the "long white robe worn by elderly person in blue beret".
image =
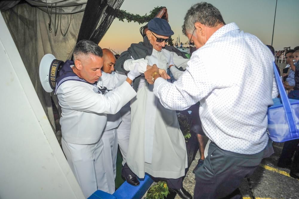
<svg viewBox="0 0 299 199">
<path fill-rule="evenodd" d="M 167 70 L 171 53 L 165 49 L 160 52 L 153 49 L 152 55 L 141 62 L 156 64 L 158 68 Z M 126 62 L 135 66 L 136 61 Z M 188 59 L 175 54 L 173 61 L 176 66 L 184 68 Z M 176 111 L 165 109 L 152 88 L 153 85 L 141 79 L 137 96 L 132 99 L 131 135 L 126 161 L 140 178 L 146 172 L 153 177 L 176 179 L 184 176 L 187 168 L 185 139 L 179 128 Z"/>
</svg>

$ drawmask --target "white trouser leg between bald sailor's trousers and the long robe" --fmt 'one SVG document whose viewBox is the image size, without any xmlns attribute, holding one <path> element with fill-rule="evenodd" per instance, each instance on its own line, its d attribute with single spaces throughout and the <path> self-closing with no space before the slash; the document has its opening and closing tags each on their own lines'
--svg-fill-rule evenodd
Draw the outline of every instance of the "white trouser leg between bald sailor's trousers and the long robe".
<svg viewBox="0 0 299 199">
<path fill-rule="evenodd" d="M 128 153 L 128 147 L 129 147 L 129 138 L 130 138 L 130 132 L 131 132 L 131 107 L 130 102 L 124 105 L 120 111 L 121 116 L 121 122 L 117 128 L 117 137 L 118 137 L 118 145 L 121 152 L 121 155 L 123 156 L 123 162 L 124 165 L 126 163 L 126 157 Z"/>
</svg>

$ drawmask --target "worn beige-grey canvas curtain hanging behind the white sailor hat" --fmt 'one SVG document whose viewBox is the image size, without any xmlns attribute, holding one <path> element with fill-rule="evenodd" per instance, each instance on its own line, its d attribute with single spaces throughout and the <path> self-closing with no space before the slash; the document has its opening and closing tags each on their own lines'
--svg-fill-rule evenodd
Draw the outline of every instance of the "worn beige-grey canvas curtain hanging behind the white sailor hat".
<svg viewBox="0 0 299 199">
<path fill-rule="evenodd" d="M 58 60 L 66 60 L 71 57 L 77 41 L 83 12 L 72 14 L 72 20 L 70 20 L 70 15 L 61 15 L 61 30 L 63 32 L 70 24 L 65 37 L 60 34 L 60 31 L 56 36 L 54 30 L 50 33 L 48 30 L 48 13 L 28 4 L 18 4 L 3 11 L 2 15 L 19 50 L 42 107 L 53 129 L 55 129 L 51 96 L 54 101 L 57 101 L 57 97 L 53 93 L 45 92 L 42 88 L 39 81 L 39 63 L 47 53 L 53 54 Z M 51 17 L 54 21 L 55 16 L 52 15 Z M 58 28 L 60 30 L 60 26 Z"/>
</svg>

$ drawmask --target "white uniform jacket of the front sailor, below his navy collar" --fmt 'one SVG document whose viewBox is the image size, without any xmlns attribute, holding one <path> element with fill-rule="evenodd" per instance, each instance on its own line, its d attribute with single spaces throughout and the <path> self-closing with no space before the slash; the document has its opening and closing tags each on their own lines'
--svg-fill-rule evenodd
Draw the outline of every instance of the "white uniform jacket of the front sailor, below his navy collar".
<svg viewBox="0 0 299 199">
<path fill-rule="evenodd" d="M 136 95 L 126 81 L 103 95 L 96 85 L 68 80 L 58 87 L 56 93 L 62 108 L 62 137 L 74 144 L 97 142 L 105 127 L 107 114 L 117 113 Z"/>
</svg>

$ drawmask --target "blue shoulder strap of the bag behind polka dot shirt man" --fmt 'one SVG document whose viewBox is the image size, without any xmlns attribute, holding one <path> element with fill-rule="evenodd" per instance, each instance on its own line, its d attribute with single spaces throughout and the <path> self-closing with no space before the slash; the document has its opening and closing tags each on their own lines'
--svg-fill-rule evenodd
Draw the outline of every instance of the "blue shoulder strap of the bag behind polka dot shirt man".
<svg viewBox="0 0 299 199">
<path fill-rule="evenodd" d="M 289 102 L 289 98 L 286 95 L 286 91 L 282 85 L 282 82 L 280 80 L 280 76 L 278 74 L 277 68 L 275 66 L 275 63 L 273 62 L 273 68 L 274 68 L 274 76 L 277 84 L 277 88 L 280 94 L 280 98 L 283 104 L 284 111 L 286 112 L 286 120 L 288 121 L 289 124 L 289 130 L 291 133 L 297 133 L 297 127 L 295 123 L 295 119 L 293 116 L 293 112 L 291 109 L 291 104 Z"/>
</svg>

